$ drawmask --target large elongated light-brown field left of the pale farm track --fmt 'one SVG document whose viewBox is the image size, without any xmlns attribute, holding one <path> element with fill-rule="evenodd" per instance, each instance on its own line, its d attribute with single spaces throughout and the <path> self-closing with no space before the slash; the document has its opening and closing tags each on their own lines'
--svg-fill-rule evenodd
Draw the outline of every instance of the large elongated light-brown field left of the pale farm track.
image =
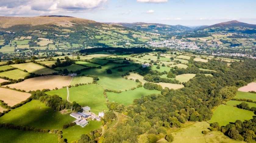
<svg viewBox="0 0 256 143">
<path fill-rule="evenodd" d="M 42 89 L 54 89 L 62 88 L 63 86 L 68 86 L 71 81 L 71 76 L 61 76 L 61 75 L 46 75 L 36 78 L 29 78 L 22 82 L 8 85 L 10 88 L 21 89 L 25 91 L 36 91 Z M 7 86 L 7 85 L 5 85 Z"/>
</svg>

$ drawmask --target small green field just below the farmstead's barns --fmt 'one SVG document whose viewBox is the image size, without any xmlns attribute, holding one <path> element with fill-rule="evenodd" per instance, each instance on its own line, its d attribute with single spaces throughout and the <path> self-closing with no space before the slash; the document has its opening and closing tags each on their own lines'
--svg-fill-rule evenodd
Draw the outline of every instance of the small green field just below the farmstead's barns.
<svg viewBox="0 0 256 143">
<path fill-rule="evenodd" d="M 71 141 L 79 140 L 81 135 L 87 134 L 93 130 L 97 130 L 100 127 L 101 127 L 101 122 L 89 121 L 88 125 L 86 125 L 84 128 L 78 125 L 74 125 L 74 126 L 63 129 L 62 135 L 63 135 L 63 138 L 66 138 L 67 141 L 70 143 Z"/>
</svg>

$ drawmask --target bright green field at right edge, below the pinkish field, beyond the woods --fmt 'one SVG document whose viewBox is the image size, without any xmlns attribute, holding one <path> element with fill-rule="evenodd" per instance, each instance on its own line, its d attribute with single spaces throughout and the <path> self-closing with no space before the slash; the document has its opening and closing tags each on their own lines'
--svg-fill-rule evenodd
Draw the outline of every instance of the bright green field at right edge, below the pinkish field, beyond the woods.
<svg viewBox="0 0 256 143">
<path fill-rule="evenodd" d="M 225 126 L 229 122 L 235 122 L 236 120 L 249 120 L 255 116 L 253 111 L 243 110 L 228 105 L 219 105 L 209 121 L 209 123 L 218 122 L 220 126 Z"/>
</svg>

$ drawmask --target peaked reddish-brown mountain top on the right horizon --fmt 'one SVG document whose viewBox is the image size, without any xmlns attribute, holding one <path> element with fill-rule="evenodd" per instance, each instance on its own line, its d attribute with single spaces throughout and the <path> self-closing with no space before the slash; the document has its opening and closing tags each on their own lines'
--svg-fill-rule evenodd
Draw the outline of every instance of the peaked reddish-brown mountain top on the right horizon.
<svg viewBox="0 0 256 143">
<path fill-rule="evenodd" d="M 206 26 L 205 28 L 213 28 L 213 27 L 245 27 L 245 28 L 255 29 L 256 25 L 233 20 L 233 21 L 222 22 L 215 25 Z"/>
</svg>

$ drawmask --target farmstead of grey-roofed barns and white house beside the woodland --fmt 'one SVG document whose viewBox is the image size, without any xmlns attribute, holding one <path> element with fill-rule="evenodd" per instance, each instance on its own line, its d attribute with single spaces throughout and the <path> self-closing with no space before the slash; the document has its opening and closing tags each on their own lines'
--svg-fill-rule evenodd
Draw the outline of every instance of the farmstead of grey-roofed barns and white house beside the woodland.
<svg viewBox="0 0 256 143">
<path fill-rule="evenodd" d="M 82 108 L 82 112 L 73 112 L 70 114 L 71 117 L 76 118 L 75 121 L 73 121 L 74 123 L 76 123 L 76 125 L 79 125 L 81 127 L 86 126 L 89 123 L 89 120 L 96 120 L 96 121 L 101 121 L 101 118 L 104 116 L 103 112 L 99 112 L 99 115 L 96 115 L 91 111 L 91 108 L 86 106 Z"/>
</svg>

